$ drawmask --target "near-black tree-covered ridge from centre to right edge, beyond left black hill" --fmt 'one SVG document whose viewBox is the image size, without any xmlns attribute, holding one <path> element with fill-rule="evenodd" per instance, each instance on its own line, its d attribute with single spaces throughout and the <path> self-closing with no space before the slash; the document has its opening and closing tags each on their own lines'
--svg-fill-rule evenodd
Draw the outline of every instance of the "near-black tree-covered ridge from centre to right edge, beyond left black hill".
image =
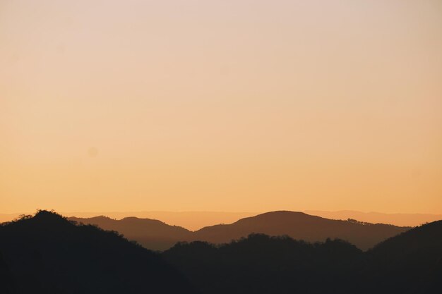
<svg viewBox="0 0 442 294">
<path fill-rule="evenodd" d="M 163 252 L 203 293 L 442 293 L 442 221 L 362 252 L 342 240 L 305 243 L 249 235 L 215 246 L 179 243 Z"/>
</svg>

